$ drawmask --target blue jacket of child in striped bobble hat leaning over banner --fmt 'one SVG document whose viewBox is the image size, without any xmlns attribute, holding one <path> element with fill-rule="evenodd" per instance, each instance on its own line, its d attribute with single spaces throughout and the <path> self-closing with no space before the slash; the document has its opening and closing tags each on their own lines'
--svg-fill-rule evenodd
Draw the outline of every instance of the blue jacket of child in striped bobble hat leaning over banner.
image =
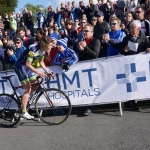
<svg viewBox="0 0 150 150">
<path fill-rule="evenodd" d="M 76 53 L 70 49 L 66 48 L 63 52 L 58 52 L 53 60 L 54 65 L 61 65 L 61 62 L 67 62 L 70 66 L 78 61 Z"/>
</svg>

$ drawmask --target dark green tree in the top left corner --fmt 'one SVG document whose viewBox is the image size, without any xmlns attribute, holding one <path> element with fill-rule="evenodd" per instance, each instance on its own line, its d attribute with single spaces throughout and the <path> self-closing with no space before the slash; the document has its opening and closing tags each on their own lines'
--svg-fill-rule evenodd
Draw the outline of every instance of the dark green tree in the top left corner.
<svg viewBox="0 0 150 150">
<path fill-rule="evenodd" d="M 10 14 L 15 11 L 18 0 L 0 0 L 0 15 L 5 17 L 5 14 Z"/>
</svg>

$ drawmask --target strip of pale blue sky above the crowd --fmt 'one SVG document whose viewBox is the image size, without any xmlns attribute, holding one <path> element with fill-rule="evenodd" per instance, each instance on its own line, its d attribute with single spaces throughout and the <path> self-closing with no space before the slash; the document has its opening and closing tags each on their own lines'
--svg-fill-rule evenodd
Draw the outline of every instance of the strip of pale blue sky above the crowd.
<svg viewBox="0 0 150 150">
<path fill-rule="evenodd" d="M 52 5 L 54 7 L 54 9 L 56 10 L 56 7 L 60 6 L 61 2 L 64 2 L 65 4 L 68 2 L 69 0 L 18 0 L 18 7 L 16 8 L 15 12 L 21 12 L 21 9 L 24 8 L 24 6 L 27 3 L 33 4 L 33 5 L 43 5 L 45 8 L 48 7 L 48 5 Z M 74 1 L 74 0 L 72 0 Z M 72 2 L 70 1 L 70 2 Z M 79 4 L 79 1 L 81 0 L 75 0 L 77 6 Z M 83 0 L 85 6 L 88 5 L 89 0 Z M 95 4 L 97 3 L 97 0 L 95 0 Z"/>
</svg>

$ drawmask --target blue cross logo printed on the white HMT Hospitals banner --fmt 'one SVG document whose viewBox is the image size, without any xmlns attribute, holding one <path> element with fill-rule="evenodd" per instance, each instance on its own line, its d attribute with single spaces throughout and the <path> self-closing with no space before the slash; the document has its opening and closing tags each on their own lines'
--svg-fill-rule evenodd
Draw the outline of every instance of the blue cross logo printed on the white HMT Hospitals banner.
<svg viewBox="0 0 150 150">
<path fill-rule="evenodd" d="M 133 81 L 130 82 L 131 77 L 134 76 Z M 125 73 L 116 75 L 117 84 L 126 84 L 127 92 L 138 91 L 137 82 L 146 81 L 146 72 L 139 71 L 136 72 L 135 63 L 125 65 Z"/>
</svg>

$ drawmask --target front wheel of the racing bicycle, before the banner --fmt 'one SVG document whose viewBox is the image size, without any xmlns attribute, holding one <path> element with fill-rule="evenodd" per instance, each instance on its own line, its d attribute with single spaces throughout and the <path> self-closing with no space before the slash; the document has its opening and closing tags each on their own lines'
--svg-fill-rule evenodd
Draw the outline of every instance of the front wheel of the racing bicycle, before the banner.
<svg viewBox="0 0 150 150">
<path fill-rule="evenodd" d="M 35 101 L 38 117 L 48 125 L 59 125 L 69 117 L 71 102 L 68 96 L 59 89 L 50 88 L 46 95 L 41 94 Z"/>
</svg>

